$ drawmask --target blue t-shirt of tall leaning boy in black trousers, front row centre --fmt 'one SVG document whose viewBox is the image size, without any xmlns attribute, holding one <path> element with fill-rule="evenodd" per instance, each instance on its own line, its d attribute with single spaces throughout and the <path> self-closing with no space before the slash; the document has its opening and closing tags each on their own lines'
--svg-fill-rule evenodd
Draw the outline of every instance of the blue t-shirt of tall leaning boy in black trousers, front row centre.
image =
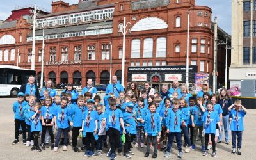
<svg viewBox="0 0 256 160">
<path fill-rule="evenodd" d="M 120 131 L 120 118 L 123 118 L 123 113 L 120 109 L 116 108 L 115 111 L 115 122 L 113 121 L 112 115 L 113 110 L 112 109 L 106 109 L 104 112 L 104 118 L 106 118 L 106 131 L 108 131 L 109 127 L 117 129 Z"/>
</svg>

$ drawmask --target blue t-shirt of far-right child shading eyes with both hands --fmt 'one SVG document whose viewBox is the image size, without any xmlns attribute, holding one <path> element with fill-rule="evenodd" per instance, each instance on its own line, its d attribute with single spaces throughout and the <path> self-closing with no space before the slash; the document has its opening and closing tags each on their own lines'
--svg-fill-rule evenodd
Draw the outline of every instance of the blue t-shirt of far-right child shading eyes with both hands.
<svg viewBox="0 0 256 160">
<path fill-rule="evenodd" d="M 231 115 L 231 123 L 230 123 L 230 130 L 231 131 L 244 131 L 244 124 L 243 124 L 243 118 L 246 115 L 244 113 L 243 109 L 237 112 L 236 117 L 236 109 L 231 109 L 230 115 Z M 237 121 L 238 118 L 238 121 Z"/>
</svg>

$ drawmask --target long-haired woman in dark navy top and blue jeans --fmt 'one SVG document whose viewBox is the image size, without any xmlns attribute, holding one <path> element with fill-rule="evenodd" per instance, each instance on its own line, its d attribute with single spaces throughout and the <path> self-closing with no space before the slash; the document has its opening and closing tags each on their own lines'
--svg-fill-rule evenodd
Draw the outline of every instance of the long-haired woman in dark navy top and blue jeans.
<svg viewBox="0 0 256 160">
<path fill-rule="evenodd" d="M 229 112 L 228 112 L 228 107 L 233 104 L 233 100 L 231 99 L 227 89 L 222 88 L 220 90 L 220 95 L 219 95 L 219 100 L 218 104 L 220 104 L 221 108 L 223 109 L 223 125 L 221 125 L 221 130 L 225 131 L 225 143 L 227 145 L 231 145 L 229 143 L 229 136 L 228 136 L 228 131 L 229 131 Z M 221 143 L 222 139 L 222 133 L 219 136 L 218 143 Z"/>
</svg>

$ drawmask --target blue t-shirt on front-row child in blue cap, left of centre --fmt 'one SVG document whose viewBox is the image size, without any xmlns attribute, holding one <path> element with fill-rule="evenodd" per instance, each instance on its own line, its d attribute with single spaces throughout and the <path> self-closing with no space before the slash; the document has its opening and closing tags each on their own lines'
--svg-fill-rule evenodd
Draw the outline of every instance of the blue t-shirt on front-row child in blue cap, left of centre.
<svg viewBox="0 0 256 160">
<path fill-rule="evenodd" d="M 97 113 L 97 111 L 92 110 L 90 111 L 90 118 L 88 121 L 88 124 L 86 124 L 86 120 L 88 118 L 88 113 L 89 110 L 85 111 L 82 117 L 82 120 L 84 120 L 84 130 L 83 132 L 94 132 L 95 128 L 96 128 L 96 120 L 99 119 L 99 115 Z"/>
</svg>

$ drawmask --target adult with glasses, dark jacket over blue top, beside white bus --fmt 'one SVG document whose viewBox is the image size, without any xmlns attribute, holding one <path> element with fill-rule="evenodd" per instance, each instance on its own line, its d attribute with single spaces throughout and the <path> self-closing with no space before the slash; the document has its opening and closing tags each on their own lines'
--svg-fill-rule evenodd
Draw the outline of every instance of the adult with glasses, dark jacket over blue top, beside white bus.
<svg viewBox="0 0 256 160">
<path fill-rule="evenodd" d="M 35 76 L 30 75 L 28 77 L 28 83 L 23 84 L 20 87 L 19 92 L 24 93 L 24 95 L 29 94 L 29 95 L 35 95 L 36 96 L 36 101 L 40 100 L 40 93 L 38 90 L 38 86 L 35 84 Z"/>
</svg>

